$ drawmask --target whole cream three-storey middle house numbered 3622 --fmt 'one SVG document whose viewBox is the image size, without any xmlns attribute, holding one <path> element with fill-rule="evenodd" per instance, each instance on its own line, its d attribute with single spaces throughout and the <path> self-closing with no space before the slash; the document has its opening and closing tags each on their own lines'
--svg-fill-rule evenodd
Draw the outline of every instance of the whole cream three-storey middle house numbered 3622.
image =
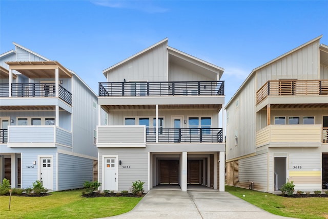
<svg viewBox="0 0 328 219">
<path fill-rule="evenodd" d="M 129 190 L 140 180 L 145 191 L 161 185 L 224 191 L 222 68 L 169 47 L 166 38 L 103 73 L 101 190 Z"/>
</svg>

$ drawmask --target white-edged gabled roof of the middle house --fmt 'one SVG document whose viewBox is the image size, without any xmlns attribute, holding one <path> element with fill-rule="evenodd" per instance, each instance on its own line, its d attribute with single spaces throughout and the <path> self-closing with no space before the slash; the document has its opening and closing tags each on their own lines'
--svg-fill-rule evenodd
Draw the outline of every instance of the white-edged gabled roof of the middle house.
<svg viewBox="0 0 328 219">
<path fill-rule="evenodd" d="M 200 72 L 203 72 L 203 73 L 206 73 L 204 72 L 205 71 L 208 71 L 208 72 L 214 72 L 216 74 L 219 74 L 220 77 L 224 71 L 223 68 L 221 67 L 218 67 L 216 65 L 213 65 L 211 63 L 208 63 L 206 61 L 203 61 L 202 59 L 200 58 L 196 58 L 192 55 L 189 55 L 185 52 L 181 52 L 177 49 L 174 49 L 170 46 L 168 46 L 168 38 L 165 38 L 163 39 L 162 41 L 159 41 L 158 43 L 130 56 L 129 58 L 126 58 L 124 59 L 123 61 L 103 70 L 103 74 L 105 75 L 105 77 L 107 77 L 106 73 L 118 66 L 120 66 L 121 64 L 124 64 L 128 61 L 130 61 L 131 59 L 135 58 L 135 57 L 138 57 L 139 55 L 142 55 L 144 53 L 147 53 L 149 50 L 159 46 L 159 45 L 162 45 L 162 44 L 166 44 L 167 45 L 167 50 L 168 50 L 168 53 L 169 53 L 169 61 L 173 61 L 173 62 L 176 62 L 176 63 L 179 63 L 180 65 L 184 65 L 184 66 L 187 66 L 187 65 L 192 65 L 193 66 L 193 69 L 196 69 L 196 68 L 201 68 L 201 71 Z"/>
</svg>

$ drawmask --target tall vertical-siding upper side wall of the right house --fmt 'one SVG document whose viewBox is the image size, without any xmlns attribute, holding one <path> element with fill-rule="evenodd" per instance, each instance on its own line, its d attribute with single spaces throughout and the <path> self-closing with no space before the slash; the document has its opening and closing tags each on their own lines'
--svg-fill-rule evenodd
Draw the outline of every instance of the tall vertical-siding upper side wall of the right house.
<svg viewBox="0 0 328 219">
<path fill-rule="evenodd" d="M 236 107 L 238 99 L 239 106 Z M 255 77 L 233 99 L 227 107 L 227 160 L 255 152 Z M 235 146 L 235 133 L 238 134 L 238 145 Z"/>
</svg>

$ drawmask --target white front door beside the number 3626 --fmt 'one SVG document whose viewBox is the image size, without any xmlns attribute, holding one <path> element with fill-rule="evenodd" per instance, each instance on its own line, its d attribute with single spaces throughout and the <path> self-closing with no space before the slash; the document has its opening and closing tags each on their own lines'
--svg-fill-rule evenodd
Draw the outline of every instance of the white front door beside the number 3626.
<svg viewBox="0 0 328 219">
<path fill-rule="evenodd" d="M 45 189 L 53 190 L 53 163 L 52 157 L 40 157 L 40 181 Z"/>
</svg>

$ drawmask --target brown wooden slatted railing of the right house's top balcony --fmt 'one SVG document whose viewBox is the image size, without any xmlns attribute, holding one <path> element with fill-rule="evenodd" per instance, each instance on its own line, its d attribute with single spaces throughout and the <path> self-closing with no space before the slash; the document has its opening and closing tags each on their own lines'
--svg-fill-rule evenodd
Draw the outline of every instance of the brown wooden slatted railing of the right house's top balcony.
<svg viewBox="0 0 328 219">
<path fill-rule="evenodd" d="M 268 96 L 315 96 L 328 94 L 328 80 L 268 81 L 256 92 L 256 105 Z"/>
</svg>

